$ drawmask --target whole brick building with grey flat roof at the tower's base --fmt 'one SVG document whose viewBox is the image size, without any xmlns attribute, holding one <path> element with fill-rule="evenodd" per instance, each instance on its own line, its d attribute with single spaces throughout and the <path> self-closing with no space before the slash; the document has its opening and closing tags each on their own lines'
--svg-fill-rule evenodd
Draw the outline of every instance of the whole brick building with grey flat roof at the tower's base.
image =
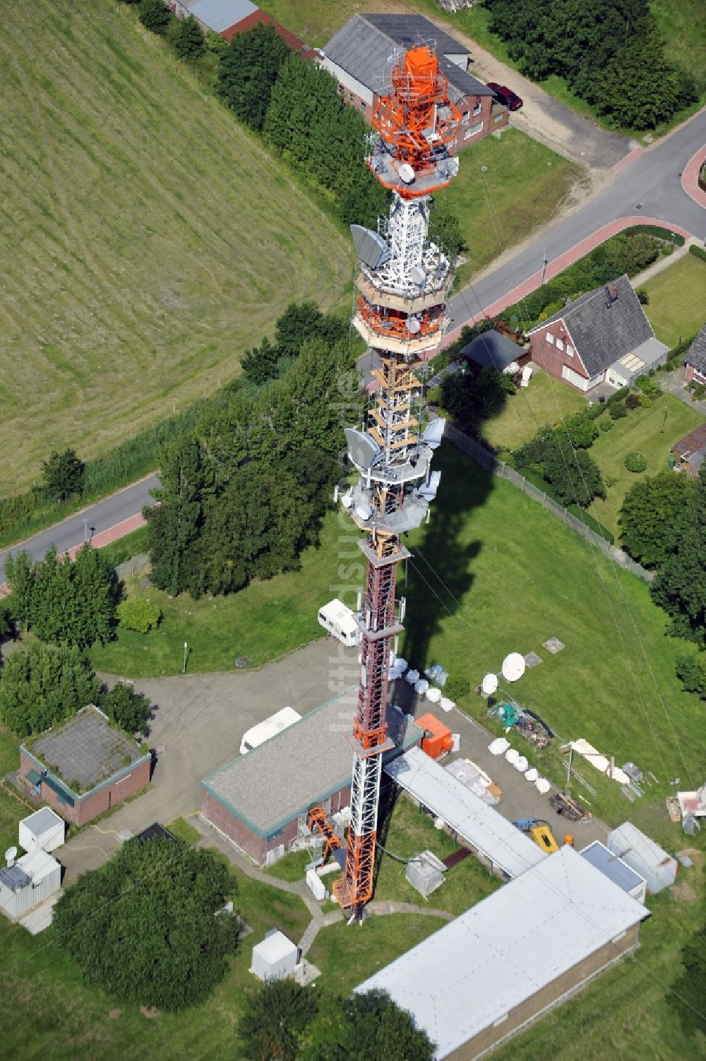
<svg viewBox="0 0 706 1061">
<path fill-rule="evenodd" d="M 313 805 L 335 813 L 350 803 L 352 728 L 357 686 L 305 715 L 246 755 L 202 781 L 202 815 L 255 862 L 283 854 Z M 421 741 L 408 715 L 390 708 L 396 747 L 385 761 Z"/>
</svg>

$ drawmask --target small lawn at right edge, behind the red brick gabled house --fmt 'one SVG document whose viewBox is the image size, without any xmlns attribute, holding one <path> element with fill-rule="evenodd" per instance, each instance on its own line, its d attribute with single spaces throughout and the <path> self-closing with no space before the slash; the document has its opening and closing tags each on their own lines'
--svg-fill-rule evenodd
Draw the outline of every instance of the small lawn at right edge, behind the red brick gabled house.
<svg viewBox="0 0 706 1061">
<path fill-rule="evenodd" d="M 644 312 L 655 335 L 673 347 L 695 335 L 706 319 L 706 262 L 685 255 L 644 284 Z"/>
</svg>

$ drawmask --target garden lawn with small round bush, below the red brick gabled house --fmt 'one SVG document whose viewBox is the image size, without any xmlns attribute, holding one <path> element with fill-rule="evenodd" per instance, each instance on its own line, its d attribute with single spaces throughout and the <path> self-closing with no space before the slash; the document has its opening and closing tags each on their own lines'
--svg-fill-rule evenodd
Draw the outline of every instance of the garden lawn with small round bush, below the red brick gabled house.
<svg viewBox="0 0 706 1061">
<path fill-rule="evenodd" d="M 597 422 L 602 423 L 607 416 L 606 412 Z M 613 532 L 617 544 L 620 544 L 618 515 L 627 490 L 647 475 L 666 471 L 670 447 L 703 420 L 695 408 L 673 395 L 665 394 L 649 408 L 630 410 L 627 416 L 614 420 L 610 431 L 599 431 L 590 455 L 598 462 L 604 477 L 613 476 L 617 483 L 608 487 L 605 501 L 597 499 L 588 510 Z M 625 454 L 631 452 L 639 452 L 647 457 L 648 467 L 643 472 L 631 472 L 625 468 Z"/>
</svg>

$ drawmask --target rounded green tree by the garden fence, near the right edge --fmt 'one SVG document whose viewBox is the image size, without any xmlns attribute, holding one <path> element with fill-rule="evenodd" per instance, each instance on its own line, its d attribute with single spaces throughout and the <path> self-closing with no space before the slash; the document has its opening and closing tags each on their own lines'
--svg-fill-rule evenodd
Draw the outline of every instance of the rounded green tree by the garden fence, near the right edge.
<svg viewBox="0 0 706 1061">
<path fill-rule="evenodd" d="M 676 544 L 681 517 L 694 490 L 693 480 L 672 471 L 636 483 L 618 516 L 623 549 L 643 567 L 664 563 Z"/>
</svg>

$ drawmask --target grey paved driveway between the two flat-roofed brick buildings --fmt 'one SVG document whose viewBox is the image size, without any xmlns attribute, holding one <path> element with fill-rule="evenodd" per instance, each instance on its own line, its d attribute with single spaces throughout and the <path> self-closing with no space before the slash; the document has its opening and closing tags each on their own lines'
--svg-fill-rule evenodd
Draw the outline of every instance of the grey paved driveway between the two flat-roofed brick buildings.
<svg viewBox="0 0 706 1061">
<path fill-rule="evenodd" d="M 200 781 L 240 753 L 251 726 L 289 705 L 300 714 L 356 683 L 358 650 L 333 639 L 242 674 L 180 675 L 135 682 L 157 705 L 150 746 L 157 762 L 148 793 L 80 833 L 58 852 L 65 884 L 102 866 L 121 842 L 153 821 L 168 822 L 201 807 Z"/>
</svg>

